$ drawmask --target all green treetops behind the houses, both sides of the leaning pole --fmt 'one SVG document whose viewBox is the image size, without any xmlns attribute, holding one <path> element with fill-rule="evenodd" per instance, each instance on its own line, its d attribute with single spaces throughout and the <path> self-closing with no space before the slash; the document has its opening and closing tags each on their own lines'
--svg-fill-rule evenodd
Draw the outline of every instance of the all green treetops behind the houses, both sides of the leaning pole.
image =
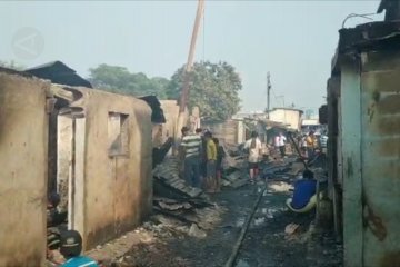
<svg viewBox="0 0 400 267">
<path fill-rule="evenodd" d="M 182 90 L 181 67 L 171 80 L 148 78 L 144 73 L 131 73 L 124 67 L 100 65 L 90 69 L 94 88 L 136 97 L 156 95 L 159 99 L 179 100 Z M 242 85 L 234 68 L 227 62 L 194 63 L 190 72 L 189 108 L 198 106 L 207 121 L 223 121 L 240 109 L 239 91 Z"/>
</svg>

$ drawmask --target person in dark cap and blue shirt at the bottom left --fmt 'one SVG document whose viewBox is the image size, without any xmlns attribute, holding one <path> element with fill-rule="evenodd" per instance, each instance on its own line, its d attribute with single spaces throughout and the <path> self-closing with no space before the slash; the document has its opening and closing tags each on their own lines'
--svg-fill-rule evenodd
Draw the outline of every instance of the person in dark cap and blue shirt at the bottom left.
<svg viewBox="0 0 400 267">
<path fill-rule="evenodd" d="M 61 267 L 99 267 L 89 257 L 82 256 L 82 237 L 79 231 L 67 230 L 61 234 L 60 253 L 66 258 Z"/>
</svg>

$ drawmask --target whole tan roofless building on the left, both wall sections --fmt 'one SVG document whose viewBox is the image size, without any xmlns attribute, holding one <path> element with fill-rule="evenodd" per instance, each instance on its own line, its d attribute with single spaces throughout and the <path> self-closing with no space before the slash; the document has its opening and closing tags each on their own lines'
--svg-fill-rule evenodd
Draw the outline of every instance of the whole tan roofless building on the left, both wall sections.
<svg viewBox="0 0 400 267">
<path fill-rule="evenodd" d="M 1 266 L 44 264 L 53 190 L 84 249 L 151 212 L 152 110 L 146 101 L 2 69 L 0 102 Z"/>
</svg>

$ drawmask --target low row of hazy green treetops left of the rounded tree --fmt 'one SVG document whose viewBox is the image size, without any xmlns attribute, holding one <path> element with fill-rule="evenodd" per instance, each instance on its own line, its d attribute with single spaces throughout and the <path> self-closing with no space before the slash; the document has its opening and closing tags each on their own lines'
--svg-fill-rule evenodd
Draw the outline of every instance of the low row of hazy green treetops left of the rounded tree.
<svg viewBox="0 0 400 267">
<path fill-rule="evenodd" d="M 127 68 L 119 66 L 99 65 L 89 69 L 90 82 L 94 88 L 142 97 L 154 95 L 166 99 L 166 87 L 169 80 L 162 77 L 149 79 L 144 73 L 131 73 Z"/>
</svg>

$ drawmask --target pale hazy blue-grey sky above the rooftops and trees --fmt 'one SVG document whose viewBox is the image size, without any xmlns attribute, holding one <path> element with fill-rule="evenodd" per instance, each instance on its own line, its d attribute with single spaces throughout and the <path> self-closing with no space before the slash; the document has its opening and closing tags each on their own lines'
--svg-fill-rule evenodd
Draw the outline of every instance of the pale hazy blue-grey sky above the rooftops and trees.
<svg viewBox="0 0 400 267">
<path fill-rule="evenodd" d="M 378 4 L 207 0 L 196 60 L 236 67 L 243 111 L 266 108 L 267 71 L 272 106 L 282 106 L 284 96 L 284 105 L 317 109 L 343 19 L 376 12 Z M 196 1 L 1 1 L 0 60 L 26 67 L 61 60 L 84 77 L 108 63 L 169 78 L 187 60 L 196 8 Z M 368 20 L 346 27 L 360 22 Z"/>
</svg>

